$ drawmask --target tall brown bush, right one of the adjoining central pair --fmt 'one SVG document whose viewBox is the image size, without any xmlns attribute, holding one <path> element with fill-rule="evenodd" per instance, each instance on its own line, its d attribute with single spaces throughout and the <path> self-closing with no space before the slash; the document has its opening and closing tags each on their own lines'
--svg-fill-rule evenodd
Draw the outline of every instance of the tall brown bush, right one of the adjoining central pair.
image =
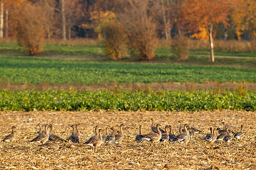
<svg viewBox="0 0 256 170">
<path fill-rule="evenodd" d="M 149 14 L 148 0 L 133 0 L 128 11 L 121 16 L 121 22 L 128 32 L 129 45 L 139 51 L 140 59 L 152 59 L 157 48 L 156 23 Z M 130 2 L 130 1 L 129 1 Z M 132 2 L 132 1 L 131 1 Z"/>
</svg>

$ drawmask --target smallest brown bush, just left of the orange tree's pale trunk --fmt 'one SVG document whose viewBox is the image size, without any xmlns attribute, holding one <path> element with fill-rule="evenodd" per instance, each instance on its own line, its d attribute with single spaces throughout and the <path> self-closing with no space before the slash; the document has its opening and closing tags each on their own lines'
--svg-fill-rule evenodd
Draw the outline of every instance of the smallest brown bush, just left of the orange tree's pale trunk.
<svg viewBox="0 0 256 170">
<path fill-rule="evenodd" d="M 172 50 L 181 61 L 189 58 L 189 39 L 184 36 L 176 36 L 172 41 Z"/>
</svg>

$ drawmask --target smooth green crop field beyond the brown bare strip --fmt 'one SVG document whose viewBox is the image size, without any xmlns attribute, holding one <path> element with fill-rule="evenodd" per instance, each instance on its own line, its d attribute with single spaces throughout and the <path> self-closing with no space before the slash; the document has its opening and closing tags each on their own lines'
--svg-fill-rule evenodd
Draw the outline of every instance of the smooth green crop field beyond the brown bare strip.
<svg viewBox="0 0 256 170">
<path fill-rule="evenodd" d="M 256 82 L 252 68 L 70 61 L 30 57 L 0 57 L 0 79 L 12 84 Z"/>
</svg>

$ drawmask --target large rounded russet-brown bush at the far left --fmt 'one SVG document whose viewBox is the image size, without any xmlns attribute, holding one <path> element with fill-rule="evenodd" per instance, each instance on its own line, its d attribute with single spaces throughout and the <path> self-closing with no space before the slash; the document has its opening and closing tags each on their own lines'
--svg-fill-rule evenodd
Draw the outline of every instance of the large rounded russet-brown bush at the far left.
<svg viewBox="0 0 256 170">
<path fill-rule="evenodd" d="M 43 42 L 46 36 L 44 29 L 44 17 L 41 8 L 26 2 L 14 12 L 17 23 L 17 42 L 26 48 L 29 55 L 35 55 L 43 51 Z"/>
</svg>

